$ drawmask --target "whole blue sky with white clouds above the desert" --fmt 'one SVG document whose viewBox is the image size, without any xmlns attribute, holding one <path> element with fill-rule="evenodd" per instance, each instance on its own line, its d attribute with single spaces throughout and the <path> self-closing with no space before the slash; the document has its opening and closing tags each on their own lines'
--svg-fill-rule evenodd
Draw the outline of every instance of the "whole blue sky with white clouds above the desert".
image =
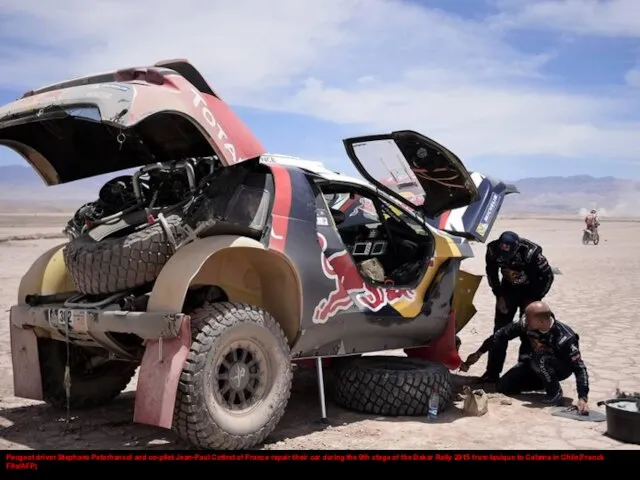
<svg viewBox="0 0 640 480">
<path fill-rule="evenodd" d="M 272 152 L 353 172 L 340 140 L 418 130 L 505 179 L 640 179 L 638 0 L 0 3 L 0 103 L 188 58 Z M 0 164 L 23 163 L 0 147 Z"/>
</svg>

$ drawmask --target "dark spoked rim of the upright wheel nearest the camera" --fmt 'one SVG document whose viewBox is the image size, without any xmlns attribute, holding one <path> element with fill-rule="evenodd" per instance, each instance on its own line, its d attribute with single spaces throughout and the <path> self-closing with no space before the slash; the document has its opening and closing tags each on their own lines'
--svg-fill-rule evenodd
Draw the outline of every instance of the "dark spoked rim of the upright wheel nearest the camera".
<svg viewBox="0 0 640 480">
<path fill-rule="evenodd" d="M 265 397 L 267 378 L 267 358 L 262 349 L 253 342 L 234 342 L 218 357 L 210 386 L 220 406 L 241 412 Z"/>
</svg>

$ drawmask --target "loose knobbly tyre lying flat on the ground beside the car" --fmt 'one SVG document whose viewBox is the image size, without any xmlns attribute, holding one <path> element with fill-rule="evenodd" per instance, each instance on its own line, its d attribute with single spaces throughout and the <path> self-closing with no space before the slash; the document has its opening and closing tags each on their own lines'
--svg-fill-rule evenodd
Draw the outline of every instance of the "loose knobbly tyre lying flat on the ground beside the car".
<svg viewBox="0 0 640 480">
<path fill-rule="evenodd" d="M 336 403 L 356 412 L 426 416 L 429 398 L 438 392 L 439 410 L 452 399 L 451 374 L 444 366 L 404 357 L 360 357 L 334 371 Z"/>
</svg>

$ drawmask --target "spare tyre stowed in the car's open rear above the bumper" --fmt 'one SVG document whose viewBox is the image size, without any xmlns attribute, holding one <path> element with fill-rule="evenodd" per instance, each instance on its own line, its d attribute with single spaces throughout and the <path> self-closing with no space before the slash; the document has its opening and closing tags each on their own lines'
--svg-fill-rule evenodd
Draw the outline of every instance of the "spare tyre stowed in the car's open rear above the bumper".
<svg viewBox="0 0 640 480">
<path fill-rule="evenodd" d="M 167 215 L 176 242 L 184 238 L 180 215 Z M 117 293 L 156 280 L 173 255 L 164 228 L 155 223 L 125 236 L 96 242 L 88 234 L 71 240 L 64 248 L 64 261 L 79 292 L 89 295 Z"/>
</svg>

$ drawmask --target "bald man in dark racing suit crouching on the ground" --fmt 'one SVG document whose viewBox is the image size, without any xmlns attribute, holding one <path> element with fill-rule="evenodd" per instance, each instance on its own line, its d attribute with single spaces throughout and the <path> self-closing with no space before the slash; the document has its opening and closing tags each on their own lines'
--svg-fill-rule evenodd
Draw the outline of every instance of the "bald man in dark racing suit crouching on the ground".
<svg viewBox="0 0 640 480">
<path fill-rule="evenodd" d="M 518 363 L 505 373 L 497 389 L 505 395 L 546 390 L 543 403 L 560 405 L 563 398 L 560 382 L 576 377 L 578 411 L 588 412 L 589 375 L 580 354 L 579 336 L 555 319 L 544 302 L 533 302 L 518 322 L 510 323 L 487 338 L 461 366 L 467 371 L 480 357 L 492 349 L 506 347 L 509 340 L 520 337 Z"/>
</svg>

